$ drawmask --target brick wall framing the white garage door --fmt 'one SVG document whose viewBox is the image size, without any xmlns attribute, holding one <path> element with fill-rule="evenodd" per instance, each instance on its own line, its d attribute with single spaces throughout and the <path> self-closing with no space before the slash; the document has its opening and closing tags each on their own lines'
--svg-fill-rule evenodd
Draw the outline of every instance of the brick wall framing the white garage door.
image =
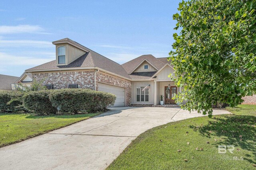
<svg viewBox="0 0 256 170">
<path fill-rule="evenodd" d="M 116 78 L 102 72 L 97 73 L 96 80 L 96 90 L 98 90 L 98 82 L 126 88 L 126 106 L 130 106 L 132 100 L 132 84 L 130 81 Z"/>
</svg>

